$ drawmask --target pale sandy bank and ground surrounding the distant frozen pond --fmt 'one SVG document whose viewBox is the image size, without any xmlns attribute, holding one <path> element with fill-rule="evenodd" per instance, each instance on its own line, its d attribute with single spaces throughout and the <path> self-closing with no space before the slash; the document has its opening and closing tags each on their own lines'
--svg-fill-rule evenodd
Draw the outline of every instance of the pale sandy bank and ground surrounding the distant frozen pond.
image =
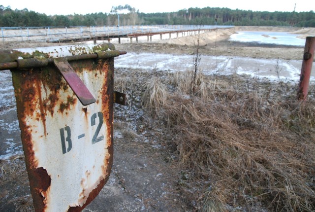
<svg viewBox="0 0 315 212">
<path fill-rule="evenodd" d="M 199 53 L 201 55 L 224 55 L 265 59 L 299 60 L 304 48 L 296 46 L 242 43 L 229 41 L 230 35 L 238 31 L 276 31 L 303 34 L 304 37 L 315 35 L 315 28 L 274 28 L 274 27 L 236 27 L 200 34 Z M 197 46 L 198 35 L 161 40 L 155 43 L 115 44 L 117 49 L 127 52 L 156 52 L 170 54 L 193 54 Z"/>
</svg>

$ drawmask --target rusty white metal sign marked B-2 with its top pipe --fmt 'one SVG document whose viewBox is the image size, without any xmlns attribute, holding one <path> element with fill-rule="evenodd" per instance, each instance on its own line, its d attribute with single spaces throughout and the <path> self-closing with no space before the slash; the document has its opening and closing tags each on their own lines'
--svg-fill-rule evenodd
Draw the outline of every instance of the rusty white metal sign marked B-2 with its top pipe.
<svg viewBox="0 0 315 212">
<path fill-rule="evenodd" d="M 0 51 L 10 69 L 36 211 L 81 211 L 113 162 L 112 44 Z"/>
</svg>

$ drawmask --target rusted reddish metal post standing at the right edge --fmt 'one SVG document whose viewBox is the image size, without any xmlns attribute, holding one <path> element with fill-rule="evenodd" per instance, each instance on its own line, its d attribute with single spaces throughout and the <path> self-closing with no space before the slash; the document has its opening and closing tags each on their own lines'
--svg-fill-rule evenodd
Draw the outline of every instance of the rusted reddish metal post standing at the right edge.
<svg viewBox="0 0 315 212">
<path fill-rule="evenodd" d="M 313 65 L 313 60 L 314 60 L 314 52 L 315 52 L 315 36 L 308 36 L 306 37 L 306 41 L 305 41 L 299 90 L 297 93 L 297 99 L 301 101 L 305 101 L 307 98 L 312 65 Z"/>
</svg>

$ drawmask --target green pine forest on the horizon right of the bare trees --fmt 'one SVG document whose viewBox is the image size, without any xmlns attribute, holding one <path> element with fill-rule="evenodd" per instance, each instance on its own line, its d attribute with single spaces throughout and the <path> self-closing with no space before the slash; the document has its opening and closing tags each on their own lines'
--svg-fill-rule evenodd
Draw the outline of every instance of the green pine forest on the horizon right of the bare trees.
<svg viewBox="0 0 315 212">
<path fill-rule="evenodd" d="M 140 13 L 143 24 L 315 27 L 315 13 L 267 12 L 218 7 L 189 8 L 172 13 Z"/>
</svg>

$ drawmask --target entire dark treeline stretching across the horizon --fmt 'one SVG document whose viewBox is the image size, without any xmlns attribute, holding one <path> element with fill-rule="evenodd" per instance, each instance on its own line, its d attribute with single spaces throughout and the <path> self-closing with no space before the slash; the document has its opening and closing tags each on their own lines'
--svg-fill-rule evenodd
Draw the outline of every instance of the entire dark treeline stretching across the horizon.
<svg viewBox="0 0 315 212">
<path fill-rule="evenodd" d="M 232 10 L 229 8 L 189 8 L 169 13 L 140 13 L 134 8 L 119 14 L 120 25 L 235 25 L 235 26 L 296 26 L 315 27 L 315 13 L 267 12 Z M 12 10 L 0 5 L 0 27 L 45 26 L 113 26 L 118 25 L 117 14 L 91 13 L 86 15 L 54 15 L 23 10 Z"/>
</svg>

